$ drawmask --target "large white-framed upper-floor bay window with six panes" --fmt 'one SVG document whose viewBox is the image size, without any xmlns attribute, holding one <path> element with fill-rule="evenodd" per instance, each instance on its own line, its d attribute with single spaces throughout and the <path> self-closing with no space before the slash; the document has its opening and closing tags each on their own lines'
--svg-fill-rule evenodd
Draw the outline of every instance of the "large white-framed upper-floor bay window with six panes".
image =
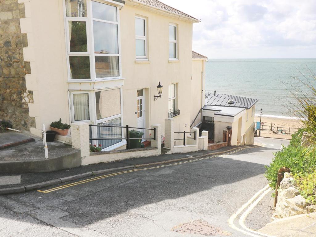
<svg viewBox="0 0 316 237">
<path fill-rule="evenodd" d="M 120 77 L 118 8 L 89 0 L 65 3 L 69 80 Z"/>
</svg>

